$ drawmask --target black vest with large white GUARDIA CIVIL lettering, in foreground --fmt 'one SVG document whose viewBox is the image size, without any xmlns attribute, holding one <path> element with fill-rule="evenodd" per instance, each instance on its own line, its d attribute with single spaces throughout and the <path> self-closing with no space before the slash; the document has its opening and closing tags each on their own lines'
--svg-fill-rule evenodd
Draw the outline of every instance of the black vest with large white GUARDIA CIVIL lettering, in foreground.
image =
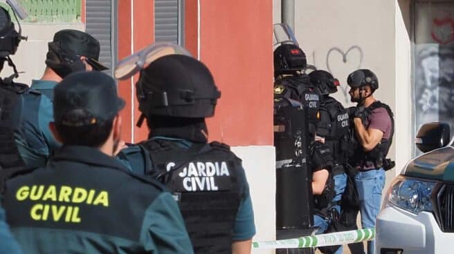
<svg viewBox="0 0 454 254">
<path fill-rule="evenodd" d="M 241 160 L 224 144 L 193 144 L 151 139 L 152 170 L 179 203 L 194 253 L 232 253 L 232 232 L 239 208 Z"/>
</svg>

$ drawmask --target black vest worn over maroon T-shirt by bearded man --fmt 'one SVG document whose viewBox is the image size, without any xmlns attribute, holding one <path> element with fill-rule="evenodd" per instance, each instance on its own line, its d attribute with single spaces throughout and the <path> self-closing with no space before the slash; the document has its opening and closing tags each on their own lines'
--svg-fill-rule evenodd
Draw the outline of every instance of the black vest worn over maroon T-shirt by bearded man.
<svg viewBox="0 0 454 254">
<path fill-rule="evenodd" d="M 367 162 L 372 162 L 375 168 L 385 168 L 385 170 L 391 169 L 394 165 L 389 165 L 391 162 L 390 159 L 386 159 L 388 152 L 392 144 L 392 137 L 394 136 L 394 114 L 391 111 L 391 108 L 387 104 L 383 104 L 381 101 L 375 101 L 373 104 L 365 108 L 365 118 L 369 119 L 372 115 L 372 111 L 376 108 L 384 108 L 391 119 L 391 133 L 390 139 L 382 138 L 379 144 L 377 144 L 374 149 L 370 151 L 364 151 L 361 146 L 358 146 L 356 149 L 355 155 L 358 157 L 361 166 L 366 165 Z M 363 119 L 364 123 L 364 119 Z M 367 126 L 365 126 L 367 128 Z"/>
</svg>

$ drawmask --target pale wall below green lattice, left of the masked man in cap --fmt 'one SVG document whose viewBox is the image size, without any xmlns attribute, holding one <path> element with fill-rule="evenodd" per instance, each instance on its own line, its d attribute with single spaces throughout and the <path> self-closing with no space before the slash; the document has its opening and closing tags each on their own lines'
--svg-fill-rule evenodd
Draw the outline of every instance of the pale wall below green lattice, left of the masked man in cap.
<svg viewBox="0 0 454 254">
<path fill-rule="evenodd" d="M 16 29 L 17 28 L 17 24 Z M 22 35 L 28 37 L 21 41 L 15 55 L 11 56 L 17 66 L 19 78 L 17 82 L 30 85 L 32 79 L 39 79 L 46 64 L 47 43 L 52 41 L 55 32 L 62 29 L 84 30 L 84 23 L 21 23 Z M 1 77 L 12 74 L 12 68 L 7 64 L 3 67 Z"/>
</svg>

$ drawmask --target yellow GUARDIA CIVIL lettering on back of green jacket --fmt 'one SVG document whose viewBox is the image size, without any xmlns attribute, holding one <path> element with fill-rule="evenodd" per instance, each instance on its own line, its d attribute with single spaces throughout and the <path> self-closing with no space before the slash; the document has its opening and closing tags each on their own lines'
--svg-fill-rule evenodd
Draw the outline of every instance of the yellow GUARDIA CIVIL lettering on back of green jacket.
<svg viewBox="0 0 454 254">
<path fill-rule="evenodd" d="M 41 221 L 80 223 L 80 204 L 109 207 L 106 190 L 72 186 L 21 186 L 16 192 L 16 199 L 33 202 L 30 217 Z"/>
</svg>

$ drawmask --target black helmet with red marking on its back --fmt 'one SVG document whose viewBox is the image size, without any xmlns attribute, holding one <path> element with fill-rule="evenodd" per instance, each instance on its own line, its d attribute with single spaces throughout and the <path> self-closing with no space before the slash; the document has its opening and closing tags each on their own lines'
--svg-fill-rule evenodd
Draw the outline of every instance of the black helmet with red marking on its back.
<svg viewBox="0 0 454 254">
<path fill-rule="evenodd" d="M 274 77 L 293 74 L 306 66 L 306 55 L 300 47 L 294 44 L 282 44 L 274 50 Z"/>
</svg>

